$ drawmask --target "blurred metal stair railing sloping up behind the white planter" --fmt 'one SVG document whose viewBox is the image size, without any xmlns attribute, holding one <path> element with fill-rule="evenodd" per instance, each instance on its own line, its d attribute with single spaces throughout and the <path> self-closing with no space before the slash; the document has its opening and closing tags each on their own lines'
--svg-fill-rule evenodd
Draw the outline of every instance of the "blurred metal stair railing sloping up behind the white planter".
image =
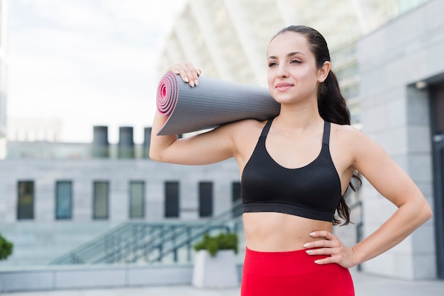
<svg viewBox="0 0 444 296">
<path fill-rule="evenodd" d="M 184 250 L 187 261 L 191 261 L 192 246 L 203 234 L 238 232 L 241 220 L 233 217 L 233 212 L 240 206 L 238 200 L 233 207 L 209 220 L 125 222 L 50 264 L 154 263 L 170 254 L 177 262 L 180 250 Z"/>
</svg>

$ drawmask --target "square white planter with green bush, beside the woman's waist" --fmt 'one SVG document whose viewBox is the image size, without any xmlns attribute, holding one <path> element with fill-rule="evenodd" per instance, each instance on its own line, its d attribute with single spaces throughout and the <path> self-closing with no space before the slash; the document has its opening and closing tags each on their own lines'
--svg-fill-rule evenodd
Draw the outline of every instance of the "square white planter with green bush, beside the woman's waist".
<svg viewBox="0 0 444 296">
<path fill-rule="evenodd" d="M 235 254 L 238 253 L 238 234 L 219 233 L 194 245 L 192 285 L 197 288 L 229 288 L 239 285 Z"/>
</svg>

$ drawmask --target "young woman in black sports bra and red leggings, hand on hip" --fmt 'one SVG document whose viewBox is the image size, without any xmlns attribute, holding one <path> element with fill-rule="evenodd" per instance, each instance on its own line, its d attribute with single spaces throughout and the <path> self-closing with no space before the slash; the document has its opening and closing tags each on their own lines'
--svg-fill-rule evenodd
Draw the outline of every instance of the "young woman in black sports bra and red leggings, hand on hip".
<svg viewBox="0 0 444 296">
<path fill-rule="evenodd" d="M 409 176 L 377 143 L 350 126 L 331 71 L 326 40 L 306 26 L 289 26 L 267 52 L 268 86 L 281 104 L 272 120 L 240 120 L 178 140 L 156 136 L 150 157 L 174 164 L 238 163 L 247 240 L 243 296 L 355 295 L 348 268 L 382 254 L 432 215 Z M 195 86 L 201 71 L 176 64 L 169 71 Z M 357 172 L 398 207 L 376 232 L 353 247 L 332 234 L 349 222 L 343 195 Z"/>
</svg>

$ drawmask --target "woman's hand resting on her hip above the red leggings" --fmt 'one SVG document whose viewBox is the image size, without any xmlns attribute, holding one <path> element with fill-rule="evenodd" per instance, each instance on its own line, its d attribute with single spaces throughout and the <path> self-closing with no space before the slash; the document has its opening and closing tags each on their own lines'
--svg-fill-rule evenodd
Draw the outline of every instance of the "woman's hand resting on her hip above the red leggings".
<svg viewBox="0 0 444 296">
<path fill-rule="evenodd" d="M 353 248 L 344 246 L 342 241 L 331 232 L 326 230 L 311 232 L 311 237 L 323 237 L 318 241 L 309 241 L 304 244 L 304 248 L 309 255 L 330 255 L 327 258 L 314 261 L 316 264 L 338 263 L 344 268 L 350 268 L 357 265 L 355 262 L 355 251 Z M 311 249 L 316 248 L 316 249 Z"/>
</svg>

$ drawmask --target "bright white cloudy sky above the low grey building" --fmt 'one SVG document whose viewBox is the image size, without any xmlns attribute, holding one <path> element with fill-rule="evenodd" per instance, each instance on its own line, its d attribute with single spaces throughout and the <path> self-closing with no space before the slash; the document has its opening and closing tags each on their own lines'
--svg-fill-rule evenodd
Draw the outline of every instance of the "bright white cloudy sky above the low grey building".
<svg viewBox="0 0 444 296">
<path fill-rule="evenodd" d="M 59 118 L 65 142 L 94 125 L 143 142 L 163 38 L 186 0 L 10 0 L 8 117 Z"/>
</svg>

